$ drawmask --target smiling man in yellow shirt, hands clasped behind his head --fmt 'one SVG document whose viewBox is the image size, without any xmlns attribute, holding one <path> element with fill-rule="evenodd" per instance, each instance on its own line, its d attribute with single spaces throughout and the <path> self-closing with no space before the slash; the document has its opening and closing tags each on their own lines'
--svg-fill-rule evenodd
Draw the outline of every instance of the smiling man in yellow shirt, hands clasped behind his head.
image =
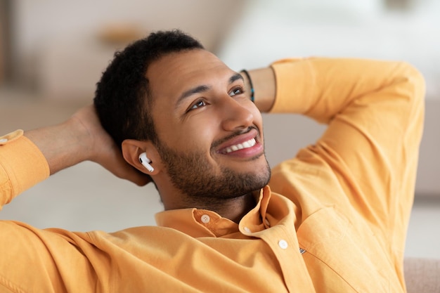
<svg viewBox="0 0 440 293">
<path fill-rule="evenodd" d="M 423 96 L 405 63 L 306 58 L 238 73 L 186 34 L 151 34 L 104 72 L 98 115 L 0 138 L 0 190 L 6 204 L 89 159 L 153 181 L 158 227 L 3 221 L 0 292 L 405 292 Z M 272 175 L 268 111 L 328 124 Z"/>
</svg>

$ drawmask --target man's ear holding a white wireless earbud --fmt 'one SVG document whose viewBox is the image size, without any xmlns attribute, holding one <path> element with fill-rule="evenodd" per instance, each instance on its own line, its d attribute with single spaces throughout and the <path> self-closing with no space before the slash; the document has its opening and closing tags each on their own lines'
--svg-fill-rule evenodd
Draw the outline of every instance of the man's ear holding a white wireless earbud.
<svg viewBox="0 0 440 293">
<path fill-rule="evenodd" d="M 141 161 L 139 161 L 139 156 L 143 152 L 147 153 L 147 157 L 151 161 L 150 165 L 154 168 L 153 171 L 148 171 Z M 150 141 L 126 139 L 122 141 L 122 155 L 131 166 L 145 174 L 155 175 L 160 171 L 160 156 L 158 155 L 157 149 Z"/>
</svg>

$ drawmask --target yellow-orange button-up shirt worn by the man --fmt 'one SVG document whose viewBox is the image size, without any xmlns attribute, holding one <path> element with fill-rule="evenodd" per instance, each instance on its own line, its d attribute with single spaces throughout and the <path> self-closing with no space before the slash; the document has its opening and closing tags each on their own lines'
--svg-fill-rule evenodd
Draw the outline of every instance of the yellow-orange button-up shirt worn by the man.
<svg viewBox="0 0 440 293">
<path fill-rule="evenodd" d="M 239 224 L 200 209 L 164 211 L 157 227 L 117 233 L 1 221 L 0 292 L 405 292 L 422 77 L 372 60 L 272 66 L 272 112 L 328 129 L 273 169 Z M 22 132 L 3 138 L 1 205 L 48 176 Z"/>
</svg>

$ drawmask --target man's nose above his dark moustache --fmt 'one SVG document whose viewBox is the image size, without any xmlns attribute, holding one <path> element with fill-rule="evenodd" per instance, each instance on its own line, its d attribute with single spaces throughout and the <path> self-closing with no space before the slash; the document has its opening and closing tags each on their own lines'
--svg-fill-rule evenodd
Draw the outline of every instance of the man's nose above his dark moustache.
<svg viewBox="0 0 440 293">
<path fill-rule="evenodd" d="M 234 131 L 252 126 L 254 115 L 246 105 L 246 103 L 234 100 L 230 96 L 225 98 L 221 106 L 221 126 L 225 131 Z"/>
</svg>

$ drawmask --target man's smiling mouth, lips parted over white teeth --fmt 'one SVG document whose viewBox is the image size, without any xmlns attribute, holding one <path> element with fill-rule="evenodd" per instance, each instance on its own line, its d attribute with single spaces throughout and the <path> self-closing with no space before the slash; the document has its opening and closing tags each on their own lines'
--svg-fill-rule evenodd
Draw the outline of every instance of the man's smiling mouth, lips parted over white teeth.
<svg viewBox="0 0 440 293">
<path fill-rule="evenodd" d="M 226 155 L 233 152 L 253 152 L 252 149 L 257 151 L 259 148 L 262 148 L 261 143 L 257 141 L 257 134 L 257 129 L 251 129 L 246 134 L 235 136 L 222 143 L 218 148 L 218 152 Z"/>
</svg>

